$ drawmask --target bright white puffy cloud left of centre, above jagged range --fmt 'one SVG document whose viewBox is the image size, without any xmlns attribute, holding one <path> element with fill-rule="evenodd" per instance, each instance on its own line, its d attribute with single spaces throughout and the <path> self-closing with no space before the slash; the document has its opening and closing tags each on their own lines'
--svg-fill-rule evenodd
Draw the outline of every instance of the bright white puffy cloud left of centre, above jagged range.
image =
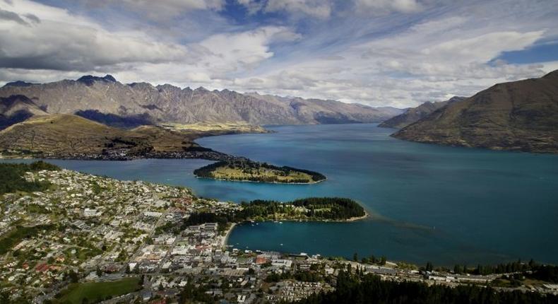
<svg viewBox="0 0 558 304">
<path fill-rule="evenodd" d="M 136 64 L 119 69 L 124 82 L 148 81 L 179 86 L 230 88 L 235 74 L 249 74 L 273 57 L 270 45 L 300 39 L 285 27 L 263 27 L 240 33 L 212 35 L 189 45 L 195 61 L 168 64 Z"/>
</svg>

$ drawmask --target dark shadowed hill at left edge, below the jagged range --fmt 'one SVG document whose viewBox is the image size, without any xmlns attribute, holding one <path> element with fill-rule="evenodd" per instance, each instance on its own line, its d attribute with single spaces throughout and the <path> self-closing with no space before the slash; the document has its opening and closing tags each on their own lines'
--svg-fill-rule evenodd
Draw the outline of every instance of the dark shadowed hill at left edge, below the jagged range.
<svg viewBox="0 0 558 304">
<path fill-rule="evenodd" d="M 23 122 L 33 115 L 44 115 L 39 106 L 23 95 L 11 95 L 0 98 L 0 130 L 11 124 Z"/>
</svg>

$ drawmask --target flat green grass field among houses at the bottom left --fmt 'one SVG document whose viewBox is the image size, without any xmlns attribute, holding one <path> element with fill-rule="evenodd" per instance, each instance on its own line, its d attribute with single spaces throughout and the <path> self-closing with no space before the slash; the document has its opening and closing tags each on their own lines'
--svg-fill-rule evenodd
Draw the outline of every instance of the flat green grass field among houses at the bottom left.
<svg viewBox="0 0 558 304">
<path fill-rule="evenodd" d="M 126 278 L 111 282 L 73 283 L 61 292 L 56 303 L 97 303 L 107 298 L 122 296 L 140 288 L 140 278 Z"/>
</svg>

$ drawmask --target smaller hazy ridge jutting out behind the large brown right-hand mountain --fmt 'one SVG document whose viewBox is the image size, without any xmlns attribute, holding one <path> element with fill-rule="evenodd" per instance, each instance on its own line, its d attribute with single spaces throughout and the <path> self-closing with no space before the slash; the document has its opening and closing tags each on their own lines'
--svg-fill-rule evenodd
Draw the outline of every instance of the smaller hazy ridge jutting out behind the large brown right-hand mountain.
<svg viewBox="0 0 558 304">
<path fill-rule="evenodd" d="M 445 105 L 449 105 L 450 103 L 456 103 L 464 99 L 465 97 L 453 96 L 452 98 L 446 101 L 438 101 L 434 103 L 427 101 L 426 103 L 423 103 L 418 107 L 412 107 L 406 110 L 405 112 L 403 112 L 403 114 L 397 115 L 395 117 L 391 117 L 385 122 L 379 124 L 378 127 L 403 129 L 404 127 L 407 127 L 409 124 L 412 124 L 413 122 L 417 122 L 420 119 L 427 117 L 430 113 L 438 110 L 441 107 L 444 107 Z"/>
</svg>

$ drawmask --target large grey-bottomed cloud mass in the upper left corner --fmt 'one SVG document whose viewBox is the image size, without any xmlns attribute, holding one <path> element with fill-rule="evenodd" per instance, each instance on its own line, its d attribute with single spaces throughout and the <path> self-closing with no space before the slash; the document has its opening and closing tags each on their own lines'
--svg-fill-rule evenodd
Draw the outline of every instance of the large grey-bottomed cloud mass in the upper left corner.
<svg viewBox="0 0 558 304">
<path fill-rule="evenodd" d="M 40 23 L 0 21 L 0 65 L 6 68 L 90 71 L 133 62 L 172 62 L 189 55 L 183 45 L 152 40 L 139 31 L 109 32 L 87 18 L 31 1 L 6 11 L 32 13 Z"/>
</svg>

